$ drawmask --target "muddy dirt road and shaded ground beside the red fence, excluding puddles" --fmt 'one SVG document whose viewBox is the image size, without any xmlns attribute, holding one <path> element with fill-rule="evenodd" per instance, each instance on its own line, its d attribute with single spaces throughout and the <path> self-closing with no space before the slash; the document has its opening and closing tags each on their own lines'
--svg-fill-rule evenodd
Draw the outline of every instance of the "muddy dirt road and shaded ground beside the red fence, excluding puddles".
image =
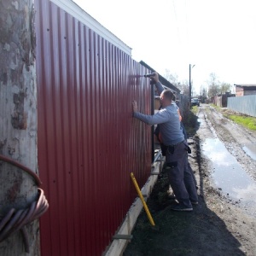
<svg viewBox="0 0 256 256">
<path fill-rule="evenodd" d="M 173 212 L 163 170 L 147 201 L 155 226 L 143 211 L 124 256 L 256 255 L 255 212 L 242 208 L 214 185 L 211 160 L 201 150 L 207 138 L 218 136 L 256 182 L 256 161 L 242 150 L 244 143 L 256 142 L 256 134 L 225 119 L 208 105 L 202 105 L 197 115 L 200 123 L 188 142 L 192 149 L 189 163 L 199 187 L 199 205 L 194 206 L 193 212 Z"/>
</svg>

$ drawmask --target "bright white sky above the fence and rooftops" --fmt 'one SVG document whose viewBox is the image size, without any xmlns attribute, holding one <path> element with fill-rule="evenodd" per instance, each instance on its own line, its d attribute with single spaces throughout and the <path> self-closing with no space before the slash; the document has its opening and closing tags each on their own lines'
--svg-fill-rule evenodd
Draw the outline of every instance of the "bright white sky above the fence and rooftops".
<svg viewBox="0 0 256 256">
<path fill-rule="evenodd" d="M 256 84 L 255 0 L 74 0 L 131 47 L 132 58 L 193 88 Z"/>
</svg>

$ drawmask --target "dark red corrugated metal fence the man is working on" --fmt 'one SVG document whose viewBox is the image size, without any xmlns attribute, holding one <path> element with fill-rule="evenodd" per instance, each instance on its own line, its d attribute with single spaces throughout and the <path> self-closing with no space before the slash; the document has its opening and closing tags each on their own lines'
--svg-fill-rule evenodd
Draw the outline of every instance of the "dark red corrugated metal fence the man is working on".
<svg viewBox="0 0 256 256">
<path fill-rule="evenodd" d="M 101 255 L 151 165 L 147 72 L 48 0 L 35 1 L 38 168 L 49 211 L 40 219 L 41 253 Z"/>
</svg>

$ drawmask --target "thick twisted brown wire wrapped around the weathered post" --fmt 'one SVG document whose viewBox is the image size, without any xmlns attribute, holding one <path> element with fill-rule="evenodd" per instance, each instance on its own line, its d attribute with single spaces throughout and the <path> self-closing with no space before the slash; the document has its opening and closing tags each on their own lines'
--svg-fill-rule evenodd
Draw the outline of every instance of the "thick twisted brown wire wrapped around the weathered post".
<svg viewBox="0 0 256 256">
<path fill-rule="evenodd" d="M 39 188 L 42 182 L 35 172 L 32 172 L 32 170 L 30 170 L 26 166 L 23 166 L 19 162 L 9 159 L 2 154 L 0 154 L 0 160 L 17 166 L 23 171 L 27 172 L 35 179 L 38 185 L 38 199 L 36 201 L 33 201 L 30 207 L 18 210 L 16 210 L 15 208 L 11 208 L 9 212 L 0 219 L 0 242 L 13 234 L 15 231 L 20 230 L 25 244 L 25 251 L 26 253 L 29 253 L 28 238 L 24 227 L 26 224 L 32 222 L 36 218 L 41 217 L 44 212 L 46 212 L 49 208 L 49 203 L 44 196 L 44 190 Z"/>
</svg>

